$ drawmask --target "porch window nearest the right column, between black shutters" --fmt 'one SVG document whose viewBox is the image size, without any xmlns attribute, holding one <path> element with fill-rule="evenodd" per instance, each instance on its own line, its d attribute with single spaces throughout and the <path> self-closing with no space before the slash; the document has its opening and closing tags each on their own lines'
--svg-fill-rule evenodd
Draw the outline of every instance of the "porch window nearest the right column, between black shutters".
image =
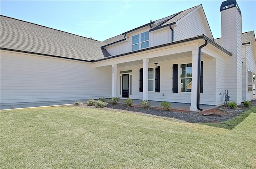
<svg viewBox="0 0 256 169">
<path fill-rule="evenodd" d="M 180 91 L 191 92 L 192 87 L 192 64 L 180 65 Z"/>
</svg>

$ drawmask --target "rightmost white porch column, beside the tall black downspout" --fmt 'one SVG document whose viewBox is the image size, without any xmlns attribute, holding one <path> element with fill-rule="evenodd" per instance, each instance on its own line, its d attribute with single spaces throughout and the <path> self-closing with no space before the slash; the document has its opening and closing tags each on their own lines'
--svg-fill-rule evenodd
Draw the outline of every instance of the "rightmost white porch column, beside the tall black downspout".
<svg viewBox="0 0 256 169">
<path fill-rule="evenodd" d="M 191 87 L 191 111 L 197 111 L 197 74 L 198 74 L 198 50 L 192 50 L 192 87 Z"/>
</svg>

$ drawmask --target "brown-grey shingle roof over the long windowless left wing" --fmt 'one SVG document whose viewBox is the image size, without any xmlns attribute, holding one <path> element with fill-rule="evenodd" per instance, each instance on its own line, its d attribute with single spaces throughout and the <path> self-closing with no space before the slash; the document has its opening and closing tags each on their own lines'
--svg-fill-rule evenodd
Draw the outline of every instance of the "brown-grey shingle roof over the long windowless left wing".
<svg viewBox="0 0 256 169">
<path fill-rule="evenodd" d="M 90 38 L 6 16 L 0 16 L 0 25 L 1 48 L 88 61 L 109 55 L 102 42 Z"/>
</svg>

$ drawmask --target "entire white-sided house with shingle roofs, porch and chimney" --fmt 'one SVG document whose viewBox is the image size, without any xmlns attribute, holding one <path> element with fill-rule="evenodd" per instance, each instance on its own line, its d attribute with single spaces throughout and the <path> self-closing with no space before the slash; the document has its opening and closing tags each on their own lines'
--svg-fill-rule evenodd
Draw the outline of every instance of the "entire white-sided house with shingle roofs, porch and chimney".
<svg viewBox="0 0 256 169">
<path fill-rule="evenodd" d="M 251 100 L 254 32 L 242 34 L 236 1 L 222 2 L 214 40 L 202 5 L 103 42 L 1 16 L 1 105 L 132 98 L 222 105 Z M 157 66 L 156 66 L 157 63 Z"/>
</svg>

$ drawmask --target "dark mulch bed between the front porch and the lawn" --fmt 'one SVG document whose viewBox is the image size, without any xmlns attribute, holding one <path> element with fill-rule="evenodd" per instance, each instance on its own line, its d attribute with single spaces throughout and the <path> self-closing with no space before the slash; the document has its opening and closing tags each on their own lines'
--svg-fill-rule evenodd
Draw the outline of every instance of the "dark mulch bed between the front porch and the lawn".
<svg viewBox="0 0 256 169">
<path fill-rule="evenodd" d="M 79 107 L 88 107 L 86 104 L 81 103 L 78 105 Z M 251 101 L 251 106 L 256 106 L 256 100 Z M 90 106 L 95 108 L 93 106 Z M 125 104 L 111 104 L 108 103 L 107 107 L 103 109 L 110 110 L 110 111 L 120 111 L 120 112 L 129 112 L 129 113 L 136 113 L 140 115 L 156 115 L 160 117 L 171 117 L 175 119 L 179 119 L 182 121 L 187 121 L 189 123 L 220 123 L 221 121 L 225 121 L 236 117 L 237 115 L 241 114 L 242 112 L 246 111 L 248 108 L 244 107 L 243 104 L 238 105 L 236 108 L 231 109 L 226 106 L 219 106 L 214 109 L 206 110 L 203 112 L 180 112 L 180 111 L 164 111 L 163 109 L 153 108 L 150 107 L 149 109 L 145 109 L 141 106 L 126 106 Z M 220 116 L 205 116 L 203 114 L 218 114 Z"/>
</svg>

